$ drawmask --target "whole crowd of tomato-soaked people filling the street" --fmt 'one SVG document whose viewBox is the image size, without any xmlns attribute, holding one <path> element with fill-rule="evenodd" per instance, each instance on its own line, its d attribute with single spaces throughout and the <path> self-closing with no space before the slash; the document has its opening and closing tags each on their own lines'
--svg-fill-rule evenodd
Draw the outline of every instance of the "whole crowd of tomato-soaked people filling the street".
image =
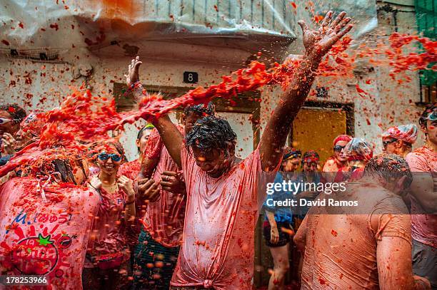
<svg viewBox="0 0 437 290">
<path fill-rule="evenodd" d="M 414 151 L 413 124 L 388 128 L 380 155 L 363 138 L 340 135 L 323 167 L 316 151 L 285 147 L 318 63 L 350 21 L 328 12 L 316 31 L 299 22 L 303 61 L 244 160 L 231 126 L 207 103 L 184 108 L 182 125 L 151 116 L 132 140 L 137 160 L 127 162 L 108 138 L 89 152 L 46 148 L 4 172 L 1 275 L 44 275 L 50 289 L 252 289 L 262 210 L 274 263 L 268 289 L 283 289 L 292 242 L 301 251 L 302 289 L 436 289 L 435 104 L 419 119 L 426 145 Z M 145 91 L 140 66 L 137 57 L 125 75 L 137 100 Z M 36 114 L 2 105 L 0 171 L 37 145 L 42 130 Z M 346 182 L 331 197 L 359 200 L 368 214 L 268 206 L 266 185 L 284 180 Z M 325 195 L 282 191 L 273 199 Z"/>
</svg>

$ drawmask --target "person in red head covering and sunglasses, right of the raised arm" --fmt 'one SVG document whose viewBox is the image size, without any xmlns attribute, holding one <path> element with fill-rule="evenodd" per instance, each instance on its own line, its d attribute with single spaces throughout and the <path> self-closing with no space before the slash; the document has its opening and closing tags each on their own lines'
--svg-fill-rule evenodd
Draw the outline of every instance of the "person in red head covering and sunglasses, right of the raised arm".
<svg viewBox="0 0 437 290">
<path fill-rule="evenodd" d="M 324 172 L 323 177 L 327 182 L 333 182 L 336 172 L 345 167 L 348 162 L 348 157 L 343 155 L 342 152 L 346 144 L 352 140 L 349 135 L 338 135 L 333 140 L 333 152 L 334 155 L 326 160 L 325 165 L 323 165 L 322 171 Z"/>
</svg>

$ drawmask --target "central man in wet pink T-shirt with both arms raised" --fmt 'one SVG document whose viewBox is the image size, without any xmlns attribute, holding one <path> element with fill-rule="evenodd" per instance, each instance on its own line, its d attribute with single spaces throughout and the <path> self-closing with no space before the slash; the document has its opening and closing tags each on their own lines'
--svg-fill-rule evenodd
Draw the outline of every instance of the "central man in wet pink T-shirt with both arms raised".
<svg viewBox="0 0 437 290">
<path fill-rule="evenodd" d="M 318 63 L 352 28 L 345 15 L 341 12 L 331 21 L 328 12 L 316 31 L 298 22 L 305 55 L 260 144 L 245 160 L 234 155 L 236 135 L 222 118 L 198 120 L 185 138 L 168 116 L 154 120 L 186 180 L 184 241 L 171 279 L 173 289 L 251 289 L 254 229 L 266 183 L 273 182 L 288 130 L 308 95 Z M 138 61 L 131 69 L 138 69 Z"/>
</svg>

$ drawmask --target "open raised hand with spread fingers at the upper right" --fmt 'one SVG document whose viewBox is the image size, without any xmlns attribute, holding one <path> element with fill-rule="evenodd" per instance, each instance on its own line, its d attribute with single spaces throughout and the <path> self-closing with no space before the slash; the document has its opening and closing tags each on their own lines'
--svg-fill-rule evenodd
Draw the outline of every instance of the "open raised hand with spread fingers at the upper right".
<svg viewBox="0 0 437 290">
<path fill-rule="evenodd" d="M 305 21 L 298 21 L 303 32 L 306 56 L 311 60 L 320 60 L 340 38 L 352 29 L 352 24 L 348 24 L 351 18 L 345 18 L 346 12 L 338 14 L 333 21 L 331 21 L 332 14 L 332 11 L 326 14 L 318 30 L 312 31 L 308 29 Z"/>
</svg>

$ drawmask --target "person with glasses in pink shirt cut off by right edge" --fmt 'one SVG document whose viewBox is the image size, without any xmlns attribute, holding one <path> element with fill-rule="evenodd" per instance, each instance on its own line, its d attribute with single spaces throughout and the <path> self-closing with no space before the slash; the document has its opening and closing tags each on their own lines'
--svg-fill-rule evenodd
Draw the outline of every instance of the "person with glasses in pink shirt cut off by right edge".
<svg viewBox="0 0 437 290">
<path fill-rule="evenodd" d="M 413 271 L 437 289 L 437 105 L 428 105 L 419 118 L 426 143 L 406 156 L 413 172 L 411 236 Z"/>
</svg>

